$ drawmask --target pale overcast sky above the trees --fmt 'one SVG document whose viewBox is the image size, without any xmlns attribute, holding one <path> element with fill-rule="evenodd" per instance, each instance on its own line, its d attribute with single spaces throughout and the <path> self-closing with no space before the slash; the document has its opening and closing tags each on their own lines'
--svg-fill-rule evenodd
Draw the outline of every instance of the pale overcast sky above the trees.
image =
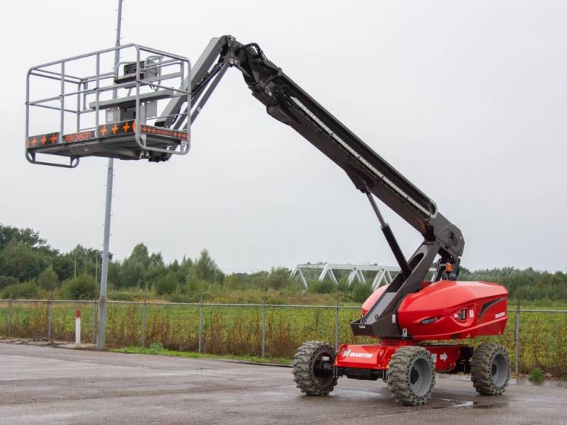
<svg viewBox="0 0 567 425">
<path fill-rule="evenodd" d="M 118 0 L 20 1 L 0 27 L 0 223 L 102 249 L 106 164 L 24 157 L 26 72 L 113 47 Z M 567 269 L 565 1 L 136 1 L 122 42 L 189 57 L 224 34 L 266 56 L 430 196 L 467 268 Z M 54 123 L 57 128 L 57 123 Z M 46 128 L 46 132 L 52 128 Z M 229 69 L 169 162 L 114 162 L 111 252 L 220 268 L 395 259 L 344 171 L 266 114 Z M 406 256 L 421 235 L 383 208 Z"/>
</svg>

